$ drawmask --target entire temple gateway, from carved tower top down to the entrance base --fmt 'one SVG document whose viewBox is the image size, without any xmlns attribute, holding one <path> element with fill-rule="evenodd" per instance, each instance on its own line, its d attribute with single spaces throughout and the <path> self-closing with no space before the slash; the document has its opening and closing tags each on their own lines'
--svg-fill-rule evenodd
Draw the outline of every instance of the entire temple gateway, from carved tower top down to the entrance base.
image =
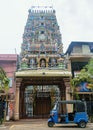
<svg viewBox="0 0 93 130">
<path fill-rule="evenodd" d="M 71 73 L 66 69 L 53 7 L 29 9 L 19 65 L 15 73 L 15 120 L 46 118 L 57 100 L 70 99 Z"/>
</svg>

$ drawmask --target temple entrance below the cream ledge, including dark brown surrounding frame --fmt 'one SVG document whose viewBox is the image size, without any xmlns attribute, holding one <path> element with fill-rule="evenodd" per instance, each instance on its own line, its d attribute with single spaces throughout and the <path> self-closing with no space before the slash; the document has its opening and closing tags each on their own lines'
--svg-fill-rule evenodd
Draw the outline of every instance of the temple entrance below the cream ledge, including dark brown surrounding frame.
<svg viewBox="0 0 93 130">
<path fill-rule="evenodd" d="M 19 107 L 16 110 L 19 110 L 19 119 L 48 118 L 55 102 L 68 98 L 69 81 L 69 77 L 57 76 L 17 78 L 19 100 L 16 97 L 16 105 L 19 102 Z"/>
</svg>

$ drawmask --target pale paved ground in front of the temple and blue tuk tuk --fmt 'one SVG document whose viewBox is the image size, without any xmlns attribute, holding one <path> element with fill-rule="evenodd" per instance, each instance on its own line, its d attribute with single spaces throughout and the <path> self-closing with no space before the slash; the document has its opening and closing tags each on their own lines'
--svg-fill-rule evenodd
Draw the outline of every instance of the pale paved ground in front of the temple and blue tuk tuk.
<svg viewBox="0 0 93 130">
<path fill-rule="evenodd" d="M 76 124 L 66 124 L 66 125 L 55 125 L 53 129 L 57 130 L 59 128 L 66 128 L 66 130 L 72 130 L 76 128 Z M 86 128 L 93 129 L 93 123 L 88 123 Z M 0 130 L 50 130 L 52 128 L 47 126 L 47 119 L 23 119 L 19 121 L 7 121 L 0 125 Z"/>
</svg>

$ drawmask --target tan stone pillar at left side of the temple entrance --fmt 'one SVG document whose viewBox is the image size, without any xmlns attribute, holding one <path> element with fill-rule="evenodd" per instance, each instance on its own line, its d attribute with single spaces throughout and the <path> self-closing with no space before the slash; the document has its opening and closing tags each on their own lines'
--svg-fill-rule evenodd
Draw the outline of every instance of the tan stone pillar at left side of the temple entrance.
<svg viewBox="0 0 93 130">
<path fill-rule="evenodd" d="M 14 120 L 19 120 L 19 86 L 16 87 Z"/>
</svg>

